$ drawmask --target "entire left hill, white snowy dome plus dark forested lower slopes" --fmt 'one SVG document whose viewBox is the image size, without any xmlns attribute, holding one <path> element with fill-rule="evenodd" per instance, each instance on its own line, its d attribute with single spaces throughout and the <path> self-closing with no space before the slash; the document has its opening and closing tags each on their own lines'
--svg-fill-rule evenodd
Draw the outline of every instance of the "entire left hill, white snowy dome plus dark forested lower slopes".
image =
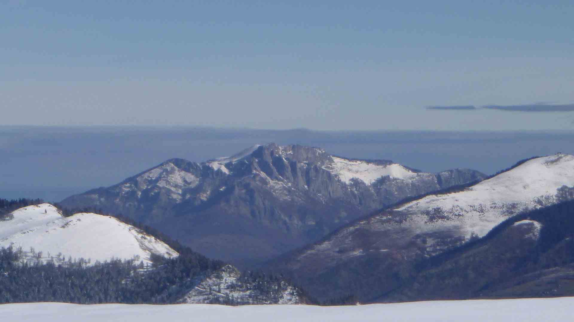
<svg viewBox="0 0 574 322">
<path fill-rule="evenodd" d="M 112 258 L 134 260 L 136 265 L 142 261 L 145 265 L 151 263 L 151 254 L 168 258 L 179 254 L 156 237 L 117 218 L 94 213 L 63 217 L 55 206 L 48 203 L 24 207 L 0 217 L 0 248 L 10 246 L 20 256 L 13 266 L 6 265 L 5 260 L 10 260 L 10 257 L 2 258 L 1 303 L 22 300 L 231 305 L 302 302 L 300 289 L 283 278 L 264 274 L 254 276 L 253 273 L 242 276 L 234 266 L 223 265 L 189 249 L 183 258 L 156 261 L 153 263 L 156 265 L 145 269 L 124 265 L 123 270 L 118 270 L 119 266 L 114 263 L 98 265 L 95 270 L 89 270 L 90 273 L 80 272 L 80 266 Z M 69 259 L 72 262 L 68 262 Z M 21 265 L 25 262 L 29 266 Z M 53 262 L 56 266 L 35 265 L 46 262 Z M 70 265 L 72 263 L 80 265 Z M 6 269 L 8 266 L 11 269 Z M 66 266 L 73 269 L 66 270 Z M 34 269 L 41 272 L 41 277 L 33 272 Z M 73 272 L 69 276 L 80 278 L 81 293 L 77 292 L 78 280 L 70 284 L 69 276 L 60 275 L 60 269 Z M 98 274 L 109 276 L 99 280 Z M 38 279 L 34 280 L 36 277 Z M 158 277 L 164 280 L 161 285 L 153 281 Z M 6 284 L 7 280 L 2 278 L 10 278 L 10 282 Z M 102 284 L 106 286 L 102 287 Z"/>
</svg>

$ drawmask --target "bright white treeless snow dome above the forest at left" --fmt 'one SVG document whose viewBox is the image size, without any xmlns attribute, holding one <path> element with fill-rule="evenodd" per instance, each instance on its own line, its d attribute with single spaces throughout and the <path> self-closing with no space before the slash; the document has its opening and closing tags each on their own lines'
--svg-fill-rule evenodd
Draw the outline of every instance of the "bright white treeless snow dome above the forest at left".
<svg viewBox="0 0 574 322">
<path fill-rule="evenodd" d="M 13 211 L 0 221 L 0 247 L 22 248 L 28 261 L 108 261 L 111 258 L 150 262 L 150 254 L 166 257 L 177 252 L 153 236 L 116 218 L 93 213 L 63 217 L 44 203 Z M 30 252 L 34 250 L 36 256 Z"/>
</svg>

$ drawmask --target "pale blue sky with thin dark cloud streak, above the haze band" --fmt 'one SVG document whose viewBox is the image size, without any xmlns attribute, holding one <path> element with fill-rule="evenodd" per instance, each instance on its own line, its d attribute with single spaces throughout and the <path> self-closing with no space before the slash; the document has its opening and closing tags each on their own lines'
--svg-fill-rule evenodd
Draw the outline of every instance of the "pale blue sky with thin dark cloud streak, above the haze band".
<svg viewBox="0 0 574 322">
<path fill-rule="evenodd" d="M 573 14 L 572 1 L 0 0 L 0 125 L 573 129 Z"/>
</svg>

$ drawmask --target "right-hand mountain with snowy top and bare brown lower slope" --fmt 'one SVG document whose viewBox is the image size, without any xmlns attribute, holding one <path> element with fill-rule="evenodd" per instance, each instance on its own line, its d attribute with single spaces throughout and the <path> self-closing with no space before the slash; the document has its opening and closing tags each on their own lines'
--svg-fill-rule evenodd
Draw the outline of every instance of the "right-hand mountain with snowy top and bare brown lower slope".
<svg viewBox="0 0 574 322">
<path fill-rule="evenodd" d="M 292 272 L 315 296 L 345 292 L 350 285 L 365 297 L 380 296 L 396 288 L 394 282 L 408 276 L 414 262 L 483 237 L 514 215 L 571 199 L 574 156 L 534 158 L 465 189 L 365 217 L 269 266 Z M 373 289 L 373 278 L 385 285 Z"/>
</svg>

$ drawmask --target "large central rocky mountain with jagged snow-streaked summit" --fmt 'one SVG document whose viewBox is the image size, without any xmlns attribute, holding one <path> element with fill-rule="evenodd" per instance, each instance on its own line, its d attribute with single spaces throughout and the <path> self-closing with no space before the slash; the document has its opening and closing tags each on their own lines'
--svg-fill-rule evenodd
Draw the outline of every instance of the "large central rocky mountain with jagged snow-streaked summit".
<svg viewBox="0 0 574 322">
<path fill-rule="evenodd" d="M 253 264 L 405 197 L 484 177 L 466 169 L 431 174 L 388 160 L 271 143 L 203 163 L 170 159 L 62 203 L 121 213 L 207 256 Z"/>
</svg>

